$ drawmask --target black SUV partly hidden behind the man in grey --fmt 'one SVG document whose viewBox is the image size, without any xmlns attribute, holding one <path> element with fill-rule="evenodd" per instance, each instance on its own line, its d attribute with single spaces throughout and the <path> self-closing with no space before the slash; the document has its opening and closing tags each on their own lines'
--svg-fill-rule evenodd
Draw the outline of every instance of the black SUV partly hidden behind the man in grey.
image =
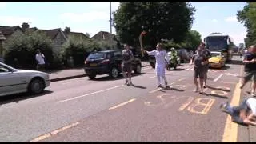
<svg viewBox="0 0 256 144">
<path fill-rule="evenodd" d="M 90 79 L 96 75 L 109 74 L 111 78 L 118 78 L 122 72 L 122 50 L 98 51 L 90 54 L 85 61 L 85 72 Z M 135 74 L 141 73 L 142 62 L 133 58 L 132 70 Z"/>
</svg>

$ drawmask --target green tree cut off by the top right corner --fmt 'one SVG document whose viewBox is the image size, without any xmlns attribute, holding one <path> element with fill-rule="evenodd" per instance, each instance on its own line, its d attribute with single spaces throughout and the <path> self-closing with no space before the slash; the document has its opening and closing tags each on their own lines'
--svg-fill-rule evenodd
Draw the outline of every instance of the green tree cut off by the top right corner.
<svg viewBox="0 0 256 144">
<path fill-rule="evenodd" d="M 246 47 L 256 42 L 256 2 L 247 2 L 242 10 L 238 10 L 238 21 L 247 28 Z"/>
</svg>

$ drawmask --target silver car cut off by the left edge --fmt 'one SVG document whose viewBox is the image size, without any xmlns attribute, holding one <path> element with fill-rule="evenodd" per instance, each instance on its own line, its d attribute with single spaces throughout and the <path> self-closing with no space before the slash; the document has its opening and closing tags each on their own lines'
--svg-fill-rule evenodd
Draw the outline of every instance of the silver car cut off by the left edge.
<svg viewBox="0 0 256 144">
<path fill-rule="evenodd" d="M 49 74 L 36 70 L 14 69 L 0 62 L 0 96 L 30 92 L 40 94 L 50 86 Z"/>
</svg>

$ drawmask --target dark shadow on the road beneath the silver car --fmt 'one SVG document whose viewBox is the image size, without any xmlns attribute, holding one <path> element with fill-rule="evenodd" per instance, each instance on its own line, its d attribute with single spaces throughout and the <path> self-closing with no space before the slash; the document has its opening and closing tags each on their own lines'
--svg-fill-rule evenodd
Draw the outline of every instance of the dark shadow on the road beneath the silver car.
<svg viewBox="0 0 256 144">
<path fill-rule="evenodd" d="M 41 97 L 44 96 L 46 94 L 51 94 L 53 93 L 52 91 L 49 90 L 44 90 L 42 92 L 42 94 L 28 94 L 28 93 L 21 93 L 21 94 L 12 94 L 12 95 L 7 95 L 4 97 L 0 98 L 0 106 L 7 104 L 7 103 L 11 103 L 11 102 L 20 102 L 29 98 L 36 98 L 36 97 Z"/>
</svg>

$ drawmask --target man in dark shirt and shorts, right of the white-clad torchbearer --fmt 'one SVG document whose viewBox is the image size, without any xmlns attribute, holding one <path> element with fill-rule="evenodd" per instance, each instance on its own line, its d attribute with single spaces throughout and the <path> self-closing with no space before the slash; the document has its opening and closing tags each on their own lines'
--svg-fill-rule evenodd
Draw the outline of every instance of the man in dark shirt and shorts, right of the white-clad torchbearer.
<svg viewBox="0 0 256 144">
<path fill-rule="evenodd" d="M 199 77 L 199 82 L 200 82 L 200 94 L 203 94 L 203 81 L 204 81 L 204 76 L 205 76 L 205 65 L 206 65 L 206 56 L 205 54 L 202 54 L 202 46 L 198 46 L 198 49 L 196 51 L 196 54 L 194 54 L 190 60 L 190 64 L 192 65 L 194 63 L 194 85 L 195 85 L 195 90 L 194 92 L 198 92 L 198 77 Z"/>
</svg>

